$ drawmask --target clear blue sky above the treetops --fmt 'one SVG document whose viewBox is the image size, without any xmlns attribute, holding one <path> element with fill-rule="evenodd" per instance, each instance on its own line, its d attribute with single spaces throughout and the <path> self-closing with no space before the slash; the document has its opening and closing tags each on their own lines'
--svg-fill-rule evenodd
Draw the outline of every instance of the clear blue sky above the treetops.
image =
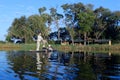
<svg viewBox="0 0 120 80">
<path fill-rule="evenodd" d="M 29 17 L 39 14 L 40 7 L 57 8 L 62 12 L 60 6 L 63 4 L 73 4 L 81 2 L 84 5 L 93 4 L 94 8 L 100 6 L 108 8 L 111 11 L 120 11 L 120 0 L 1 0 L 0 1 L 0 41 L 5 41 L 7 31 L 15 18 L 21 16 Z"/>
</svg>

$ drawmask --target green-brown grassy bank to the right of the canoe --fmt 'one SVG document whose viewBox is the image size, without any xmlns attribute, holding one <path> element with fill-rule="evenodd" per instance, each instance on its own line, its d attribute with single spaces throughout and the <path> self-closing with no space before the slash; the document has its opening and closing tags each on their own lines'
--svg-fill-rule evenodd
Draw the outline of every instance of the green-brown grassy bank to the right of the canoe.
<svg viewBox="0 0 120 80">
<path fill-rule="evenodd" d="M 114 45 L 58 45 L 55 46 L 55 48 L 59 51 L 87 51 L 87 52 L 120 52 L 120 44 L 114 44 Z"/>
</svg>

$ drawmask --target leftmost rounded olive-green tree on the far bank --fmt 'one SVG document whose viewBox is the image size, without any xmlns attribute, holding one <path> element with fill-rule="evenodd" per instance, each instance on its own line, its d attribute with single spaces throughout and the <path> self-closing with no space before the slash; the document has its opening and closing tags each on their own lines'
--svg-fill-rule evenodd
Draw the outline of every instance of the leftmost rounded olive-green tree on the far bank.
<svg viewBox="0 0 120 80">
<path fill-rule="evenodd" d="M 11 27 L 8 30 L 8 36 L 16 39 L 25 39 L 25 43 L 30 40 L 31 35 L 30 29 L 27 26 L 27 18 L 25 16 L 20 17 L 19 19 L 15 18 Z M 29 41 L 28 41 L 29 42 Z"/>
</svg>

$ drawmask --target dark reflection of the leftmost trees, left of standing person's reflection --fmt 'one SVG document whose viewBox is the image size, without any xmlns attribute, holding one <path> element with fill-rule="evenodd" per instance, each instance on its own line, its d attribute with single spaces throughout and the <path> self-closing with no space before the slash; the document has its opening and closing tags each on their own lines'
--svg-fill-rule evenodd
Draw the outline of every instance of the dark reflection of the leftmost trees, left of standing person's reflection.
<svg viewBox="0 0 120 80">
<path fill-rule="evenodd" d="M 11 69 L 16 73 L 16 77 L 20 80 L 24 80 L 27 77 L 35 79 L 36 73 L 36 59 L 34 55 L 24 51 L 10 51 L 8 53 L 9 65 Z"/>
</svg>

